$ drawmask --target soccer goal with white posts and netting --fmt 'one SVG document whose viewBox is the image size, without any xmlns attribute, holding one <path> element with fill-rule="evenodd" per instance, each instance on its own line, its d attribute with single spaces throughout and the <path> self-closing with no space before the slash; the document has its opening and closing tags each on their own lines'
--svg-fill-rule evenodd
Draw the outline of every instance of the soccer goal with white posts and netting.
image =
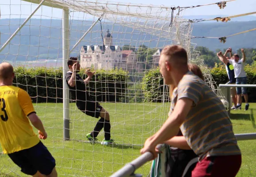
<svg viewBox="0 0 256 177">
<path fill-rule="evenodd" d="M 0 60 L 15 67 L 13 84 L 31 96 L 59 176 L 110 176 L 140 155 L 145 139 L 167 119 L 168 87 L 158 68 L 164 46 L 183 46 L 217 93 L 179 9 L 100 0 L 1 0 L 0 11 Z M 87 92 L 110 114 L 112 146 L 85 137 L 97 119 L 78 110 L 66 85 L 70 56 L 78 57 L 81 77 L 85 69 L 96 72 Z M 4 154 L 0 170 L 23 176 Z M 140 168 L 142 174 L 149 171 L 150 164 Z"/>
</svg>

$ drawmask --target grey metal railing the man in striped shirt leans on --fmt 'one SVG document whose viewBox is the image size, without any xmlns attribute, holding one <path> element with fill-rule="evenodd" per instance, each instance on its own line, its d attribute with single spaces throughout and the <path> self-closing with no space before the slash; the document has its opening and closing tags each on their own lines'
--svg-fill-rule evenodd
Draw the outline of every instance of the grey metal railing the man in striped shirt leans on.
<svg viewBox="0 0 256 177">
<path fill-rule="evenodd" d="M 235 136 L 237 141 L 256 139 L 256 133 L 235 134 Z M 163 144 L 159 144 L 157 148 L 161 150 L 163 148 Z M 142 177 L 140 174 L 135 174 L 136 169 L 140 168 L 142 165 L 148 161 L 151 161 L 152 159 L 153 154 L 151 154 L 151 152 L 146 152 L 132 162 L 124 165 L 123 168 L 119 169 L 116 173 L 113 173 L 110 177 Z"/>
</svg>

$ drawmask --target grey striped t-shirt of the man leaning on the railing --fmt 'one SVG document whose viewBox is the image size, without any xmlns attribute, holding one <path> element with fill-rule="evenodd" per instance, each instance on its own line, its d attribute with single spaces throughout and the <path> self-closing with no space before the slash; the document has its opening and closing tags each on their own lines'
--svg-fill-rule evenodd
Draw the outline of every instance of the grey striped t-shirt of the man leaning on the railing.
<svg viewBox="0 0 256 177">
<path fill-rule="evenodd" d="M 232 123 L 221 100 L 202 79 L 190 71 L 173 91 L 169 115 L 176 102 L 182 98 L 193 100 L 193 106 L 180 129 L 199 160 L 208 156 L 241 154 Z"/>
</svg>

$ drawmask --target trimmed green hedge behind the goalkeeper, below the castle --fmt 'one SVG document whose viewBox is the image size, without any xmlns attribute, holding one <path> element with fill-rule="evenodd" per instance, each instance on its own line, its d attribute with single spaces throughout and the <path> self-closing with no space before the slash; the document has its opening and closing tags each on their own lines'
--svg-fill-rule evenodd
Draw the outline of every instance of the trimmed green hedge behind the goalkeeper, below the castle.
<svg viewBox="0 0 256 177">
<path fill-rule="evenodd" d="M 79 73 L 85 79 L 84 70 Z M 24 89 L 33 102 L 62 102 L 62 68 L 15 68 L 14 85 Z M 119 101 L 125 96 L 128 73 L 122 69 L 97 70 L 87 90 L 97 101 Z M 74 97 L 71 99 L 74 100 Z"/>
</svg>

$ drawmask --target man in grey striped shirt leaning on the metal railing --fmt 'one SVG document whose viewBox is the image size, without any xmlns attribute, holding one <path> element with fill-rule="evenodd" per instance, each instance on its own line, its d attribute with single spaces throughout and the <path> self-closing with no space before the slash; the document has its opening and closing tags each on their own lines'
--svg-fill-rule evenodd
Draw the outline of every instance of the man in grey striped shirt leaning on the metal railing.
<svg viewBox="0 0 256 177">
<path fill-rule="evenodd" d="M 202 79 L 188 70 L 186 50 L 166 46 L 159 60 L 166 85 L 174 84 L 170 114 L 155 135 L 148 138 L 141 154 L 157 155 L 156 145 L 177 135 L 199 156 L 192 177 L 235 177 L 241 165 L 241 152 L 232 123 L 218 96 Z"/>
</svg>

